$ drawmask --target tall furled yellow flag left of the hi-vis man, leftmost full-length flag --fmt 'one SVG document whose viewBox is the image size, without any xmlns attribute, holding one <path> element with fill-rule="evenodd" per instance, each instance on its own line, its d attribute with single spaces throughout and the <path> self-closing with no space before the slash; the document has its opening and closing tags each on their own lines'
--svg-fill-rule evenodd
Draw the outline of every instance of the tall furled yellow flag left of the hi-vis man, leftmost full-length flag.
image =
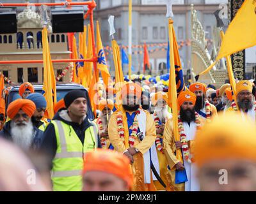
<svg viewBox="0 0 256 204">
<path fill-rule="evenodd" d="M 52 66 L 51 53 L 48 43 L 47 29 L 44 27 L 42 32 L 43 42 L 43 59 L 44 59 L 44 85 L 43 95 L 47 101 L 47 117 L 52 119 L 54 117 L 54 103 L 56 103 L 56 80 L 54 76 L 54 69 Z"/>
</svg>

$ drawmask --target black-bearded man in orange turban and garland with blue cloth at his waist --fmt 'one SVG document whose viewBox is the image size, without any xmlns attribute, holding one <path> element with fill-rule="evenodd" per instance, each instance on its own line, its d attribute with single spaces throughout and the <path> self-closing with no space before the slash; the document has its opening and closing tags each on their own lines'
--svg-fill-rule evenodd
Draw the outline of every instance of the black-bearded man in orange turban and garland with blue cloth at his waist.
<svg viewBox="0 0 256 204">
<path fill-rule="evenodd" d="M 195 134 L 202 126 L 201 117 L 195 112 L 196 95 L 190 91 L 183 91 L 179 94 L 178 103 L 180 107 L 178 115 L 180 140 L 175 141 L 173 121 L 169 119 L 164 128 L 164 154 L 169 164 L 175 191 L 199 191 L 200 187 L 195 175 L 196 167 L 191 163 Z M 176 151 L 179 149 L 182 150 L 182 161 L 176 157 Z M 176 178 L 181 172 L 186 175 L 187 179 Z"/>
</svg>

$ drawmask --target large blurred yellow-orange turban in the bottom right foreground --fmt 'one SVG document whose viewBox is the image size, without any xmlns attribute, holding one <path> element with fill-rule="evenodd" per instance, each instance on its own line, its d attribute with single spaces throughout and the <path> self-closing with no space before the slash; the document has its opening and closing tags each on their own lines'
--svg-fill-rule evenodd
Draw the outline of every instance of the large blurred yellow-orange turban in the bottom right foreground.
<svg viewBox="0 0 256 204">
<path fill-rule="evenodd" d="M 256 125 L 233 112 L 219 115 L 196 134 L 195 163 L 200 167 L 216 159 L 256 162 Z"/>
</svg>

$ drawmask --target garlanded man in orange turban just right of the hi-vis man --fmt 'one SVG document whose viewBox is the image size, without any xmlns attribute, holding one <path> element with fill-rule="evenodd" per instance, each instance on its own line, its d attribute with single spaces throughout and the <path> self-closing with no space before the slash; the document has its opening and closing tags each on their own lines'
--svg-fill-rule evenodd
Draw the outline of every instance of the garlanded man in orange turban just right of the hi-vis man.
<svg viewBox="0 0 256 204">
<path fill-rule="evenodd" d="M 108 136 L 108 123 L 111 115 L 113 114 L 114 103 L 111 99 L 102 99 L 98 106 L 100 113 L 96 119 L 96 123 L 99 129 L 100 143 L 102 149 L 109 149 L 111 143 Z"/>
</svg>

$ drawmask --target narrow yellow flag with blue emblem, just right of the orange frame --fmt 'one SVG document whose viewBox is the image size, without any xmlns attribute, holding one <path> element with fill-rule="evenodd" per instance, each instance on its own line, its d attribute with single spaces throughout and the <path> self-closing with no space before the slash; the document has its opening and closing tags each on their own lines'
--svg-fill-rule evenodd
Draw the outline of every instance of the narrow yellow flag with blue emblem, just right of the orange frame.
<svg viewBox="0 0 256 204">
<path fill-rule="evenodd" d="M 108 71 L 108 65 L 106 60 L 106 55 L 102 46 L 102 41 L 100 38 L 100 27 L 99 22 L 97 21 L 97 68 L 100 69 L 103 82 L 106 86 L 108 86 L 108 80 L 110 77 L 109 71 Z"/>
</svg>

